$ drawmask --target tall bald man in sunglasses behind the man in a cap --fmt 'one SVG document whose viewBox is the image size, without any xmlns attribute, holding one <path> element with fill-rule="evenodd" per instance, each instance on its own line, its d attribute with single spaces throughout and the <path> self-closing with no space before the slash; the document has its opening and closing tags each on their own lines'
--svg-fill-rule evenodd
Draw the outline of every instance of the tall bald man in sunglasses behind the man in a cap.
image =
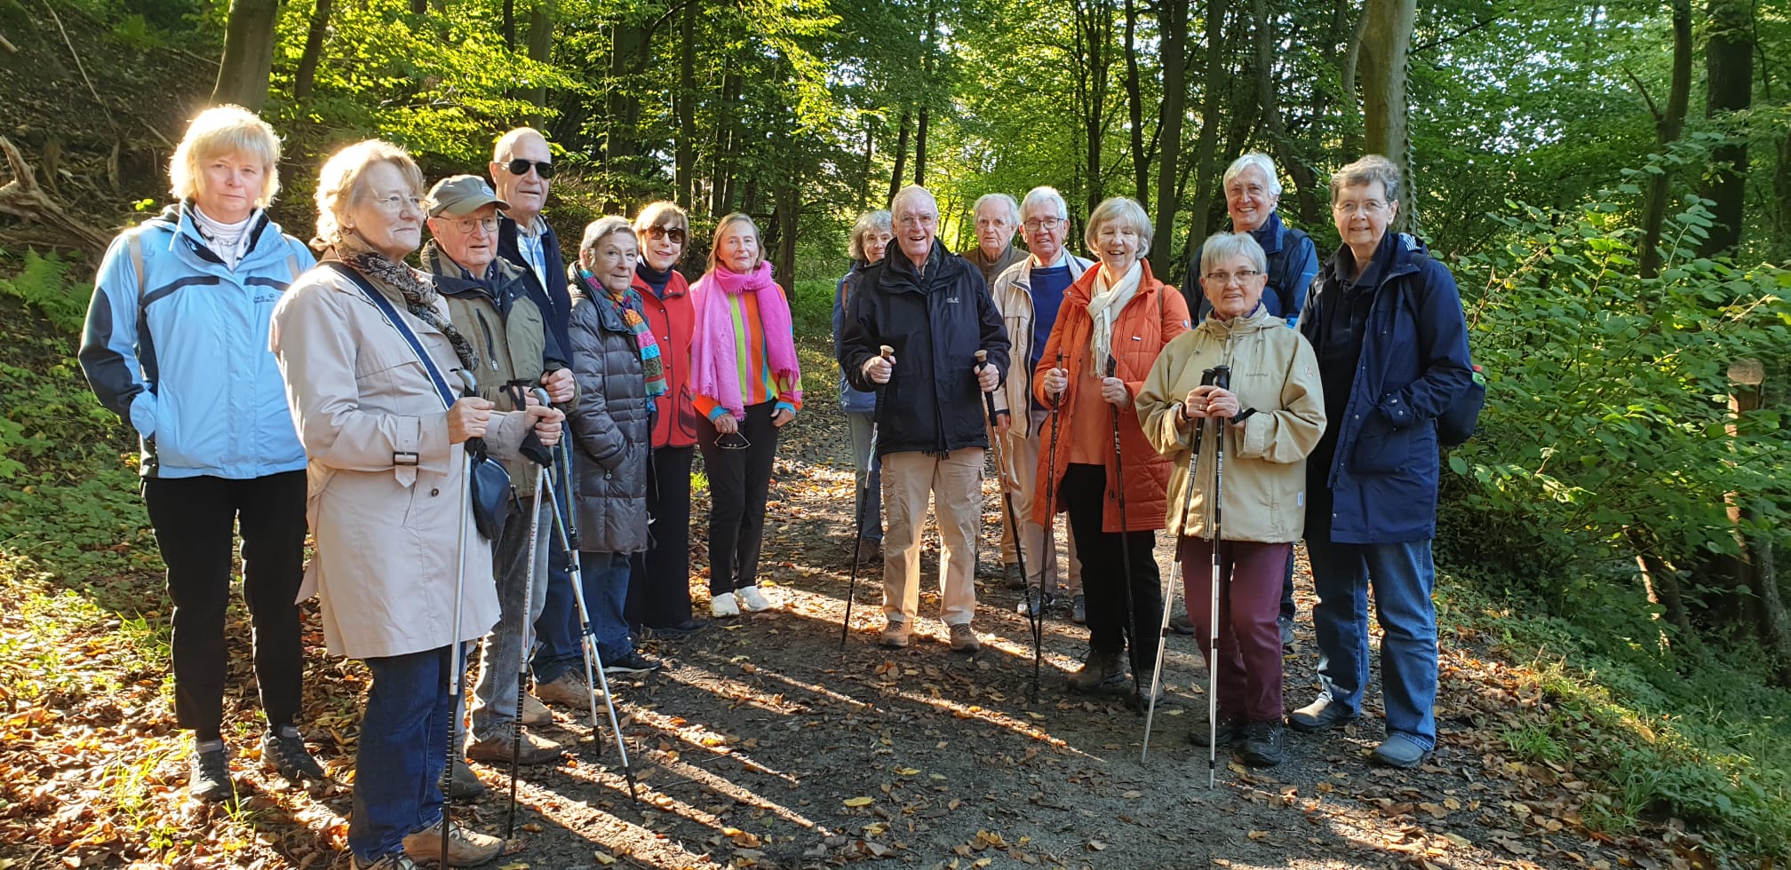
<svg viewBox="0 0 1791 870">
<path fill-rule="evenodd" d="M 532 127 L 518 127 L 498 136 L 491 150 L 491 183 L 498 188 L 503 206 L 498 209 L 498 256 L 521 267 L 536 286 L 536 299 L 546 319 L 548 335 L 557 347 L 568 347 L 566 324 L 571 315 L 571 294 L 566 290 L 566 261 L 559 236 L 541 218 L 548 204 L 553 177 L 553 152 L 548 140 Z M 570 483 L 564 471 L 561 482 Z M 561 485 L 559 489 L 568 489 Z M 570 492 L 561 492 L 561 508 Z M 578 605 L 571 591 L 571 564 L 559 546 L 548 548 L 548 600 L 536 619 L 541 646 L 534 655 L 536 695 L 571 709 L 586 709 L 591 689 L 584 671 L 573 668 L 578 652 Z"/>
</svg>

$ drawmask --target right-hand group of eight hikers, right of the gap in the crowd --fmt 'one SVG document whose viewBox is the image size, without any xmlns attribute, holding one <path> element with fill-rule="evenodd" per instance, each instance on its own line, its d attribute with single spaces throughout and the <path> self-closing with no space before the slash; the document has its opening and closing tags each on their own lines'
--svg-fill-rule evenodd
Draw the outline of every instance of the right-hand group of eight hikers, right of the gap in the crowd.
<svg viewBox="0 0 1791 870">
<path fill-rule="evenodd" d="M 858 220 L 835 347 L 858 464 L 854 555 L 883 555 L 881 643 L 913 643 L 931 496 L 944 641 L 980 648 L 973 542 L 996 446 L 1019 610 L 1041 618 L 1062 587 L 1089 627 L 1069 689 L 1161 698 L 1146 686 L 1170 621 L 1153 553 L 1166 528 L 1187 603 L 1177 621 L 1200 635 L 1218 682 L 1218 718 L 1196 743 L 1277 764 L 1284 723 L 1313 732 L 1359 718 L 1372 587 L 1386 711 L 1372 757 L 1417 766 L 1436 745 L 1435 421 L 1470 381 L 1454 279 L 1388 231 L 1402 179 L 1381 156 L 1333 175 L 1341 245 L 1322 269 L 1311 238 L 1275 213 L 1266 156 L 1238 158 L 1221 184 L 1232 227 L 1196 247 L 1187 294 L 1152 274 L 1150 217 L 1123 197 L 1084 224 L 1093 261 L 1064 247 L 1069 211 L 1048 186 L 976 200 L 976 245 L 956 256 L 935 238 L 938 206 L 921 186 Z M 1062 584 L 1057 514 L 1069 528 Z M 1302 539 L 1322 693 L 1286 714 Z"/>
</svg>

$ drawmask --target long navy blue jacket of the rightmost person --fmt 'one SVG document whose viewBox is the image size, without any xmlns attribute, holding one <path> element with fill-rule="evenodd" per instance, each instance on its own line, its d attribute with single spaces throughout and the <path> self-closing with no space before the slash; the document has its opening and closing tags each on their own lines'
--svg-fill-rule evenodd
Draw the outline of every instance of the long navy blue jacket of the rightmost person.
<svg viewBox="0 0 1791 870">
<path fill-rule="evenodd" d="M 1300 333 L 1320 358 L 1325 304 L 1341 303 L 1352 267 L 1340 247 L 1306 301 Z M 1329 501 L 1331 516 L 1307 516 L 1306 533 L 1329 526 L 1338 544 L 1427 541 L 1436 535 L 1436 417 L 1472 380 L 1461 295 L 1449 269 L 1404 233 L 1381 238 L 1361 283 L 1372 283 L 1374 299 L 1349 401 L 1325 431 L 1336 449 L 1329 465 L 1306 465 L 1313 507 Z"/>
</svg>

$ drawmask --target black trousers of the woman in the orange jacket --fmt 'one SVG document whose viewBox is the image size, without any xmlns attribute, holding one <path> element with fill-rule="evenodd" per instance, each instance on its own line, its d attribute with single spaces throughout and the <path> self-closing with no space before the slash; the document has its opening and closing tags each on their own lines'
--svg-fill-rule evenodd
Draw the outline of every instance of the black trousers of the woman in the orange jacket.
<svg viewBox="0 0 1791 870">
<path fill-rule="evenodd" d="M 1076 535 L 1076 557 L 1082 560 L 1089 648 L 1105 653 L 1127 650 L 1132 673 L 1144 675 L 1157 662 L 1157 634 L 1162 627 L 1157 533 L 1127 532 L 1121 546 L 1119 532 L 1101 530 L 1101 510 L 1107 505 L 1105 465 L 1073 464 L 1064 469 L 1062 498 L 1069 505 L 1069 533 Z M 1132 557 L 1130 589 L 1125 584 L 1125 555 Z M 1134 601 L 1135 610 L 1132 610 Z"/>
</svg>

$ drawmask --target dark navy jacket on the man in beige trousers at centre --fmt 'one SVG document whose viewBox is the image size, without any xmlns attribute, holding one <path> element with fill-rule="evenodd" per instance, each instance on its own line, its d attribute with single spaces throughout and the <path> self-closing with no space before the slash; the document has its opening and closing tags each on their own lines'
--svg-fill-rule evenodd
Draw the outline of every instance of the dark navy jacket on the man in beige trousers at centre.
<svg viewBox="0 0 1791 870">
<path fill-rule="evenodd" d="M 863 365 L 878 345 L 896 351 L 896 369 L 878 399 L 878 456 L 987 448 L 983 392 L 973 369 L 983 349 L 1007 378 L 1008 337 L 983 272 L 938 240 L 924 274 L 892 247 L 853 279 L 849 306 L 838 360 L 851 387 L 879 390 Z"/>
</svg>

